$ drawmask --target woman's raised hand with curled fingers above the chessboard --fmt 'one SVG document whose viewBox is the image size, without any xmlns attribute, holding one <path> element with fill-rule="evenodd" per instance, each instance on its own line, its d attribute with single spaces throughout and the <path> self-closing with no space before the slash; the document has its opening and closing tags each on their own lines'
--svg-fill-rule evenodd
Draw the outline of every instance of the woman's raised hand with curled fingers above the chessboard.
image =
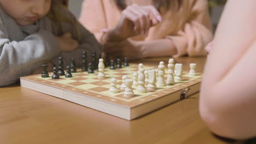
<svg viewBox="0 0 256 144">
<path fill-rule="evenodd" d="M 123 10 L 118 25 L 110 29 L 110 35 L 123 40 L 138 34 L 147 35 L 149 28 L 162 21 L 158 10 L 152 5 L 140 6 L 132 4 Z"/>
</svg>

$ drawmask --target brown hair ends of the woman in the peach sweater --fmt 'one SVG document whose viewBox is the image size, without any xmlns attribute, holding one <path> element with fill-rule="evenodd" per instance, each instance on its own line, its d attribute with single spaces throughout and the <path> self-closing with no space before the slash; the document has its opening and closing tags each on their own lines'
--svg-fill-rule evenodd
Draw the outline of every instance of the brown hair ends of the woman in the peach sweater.
<svg viewBox="0 0 256 144">
<path fill-rule="evenodd" d="M 114 0 L 115 4 L 117 4 L 117 7 L 121 10 L 124 10 L 127 7 L 125 0 Z M 182 0 L 152 0 L 154 7 L 158 9 L 158 11 L 161 10 L 168 10 L 168 9 L 174 9 L 178 10 L 182 5 Z"/>
</svg>

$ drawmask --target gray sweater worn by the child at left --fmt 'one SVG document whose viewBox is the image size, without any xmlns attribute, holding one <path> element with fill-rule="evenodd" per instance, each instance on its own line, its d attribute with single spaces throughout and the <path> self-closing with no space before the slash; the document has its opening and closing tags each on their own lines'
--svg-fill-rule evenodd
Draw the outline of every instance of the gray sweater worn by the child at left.
<svg viewBox="0 0 256 144">
<path fill-rule="evenodd" d="M 65 10 L 63 13 L 73 16 Z M 74 27 L 70 23 L 63 22 L 63 33 L 74 34 Z M 78 67 L 82 64 L 82 52 L 86 49 L 88 60 L 93 51 L 100 55 L 102 46 L 94 35 L 79 26 L 81 38 L 79 47 L 73 52 L 61 52 L 59 43 L 55 37 L 51 21 L 48 17 L 38 20 L 35 25 L 19 26 L 12 17 L 6 14 L 0 7 L 0 86 L 9 85 L 19 80 L 21 76 L 30 75 L 40 65 L 48 62 L 57 64 L 57 58 L 61 56 L 66 65 L 70 59 L 75 58 Z M 62 34 L 63 34 L 62 33 Z"/>
</svg>

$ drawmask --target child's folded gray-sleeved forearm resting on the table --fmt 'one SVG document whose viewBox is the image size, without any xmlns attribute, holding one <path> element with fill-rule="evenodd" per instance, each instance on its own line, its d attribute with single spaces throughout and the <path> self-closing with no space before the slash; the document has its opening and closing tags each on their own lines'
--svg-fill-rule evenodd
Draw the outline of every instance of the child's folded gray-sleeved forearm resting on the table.
<svg viewBox="0 0 256 144">
<path fill-rule="evenodd" d="M 10 41 L 0 33 L 0 86 L 31 74 L 60 52 L 59 43 L 48 31 L 39 31 L 22 41 Z"/>
</svg>

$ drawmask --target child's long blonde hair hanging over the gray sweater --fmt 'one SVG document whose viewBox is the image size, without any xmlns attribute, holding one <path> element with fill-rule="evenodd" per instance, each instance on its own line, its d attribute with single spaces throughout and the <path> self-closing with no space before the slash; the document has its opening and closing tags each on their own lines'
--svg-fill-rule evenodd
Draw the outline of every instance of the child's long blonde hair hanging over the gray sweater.
<svg viewBox="0 0 256 144">
<path fill-rule="evenodd" d="M 57 36 L 62 35 L 64 32 L 61 23 L 67 22 L 73 26 L 73 31 L 71 32 L 73 38 L 80 39 L 79 22 L 68 9 L 68 0 L 52 0 L 47 16 L 51 20 L 54 34 Z"/>
</svg>

